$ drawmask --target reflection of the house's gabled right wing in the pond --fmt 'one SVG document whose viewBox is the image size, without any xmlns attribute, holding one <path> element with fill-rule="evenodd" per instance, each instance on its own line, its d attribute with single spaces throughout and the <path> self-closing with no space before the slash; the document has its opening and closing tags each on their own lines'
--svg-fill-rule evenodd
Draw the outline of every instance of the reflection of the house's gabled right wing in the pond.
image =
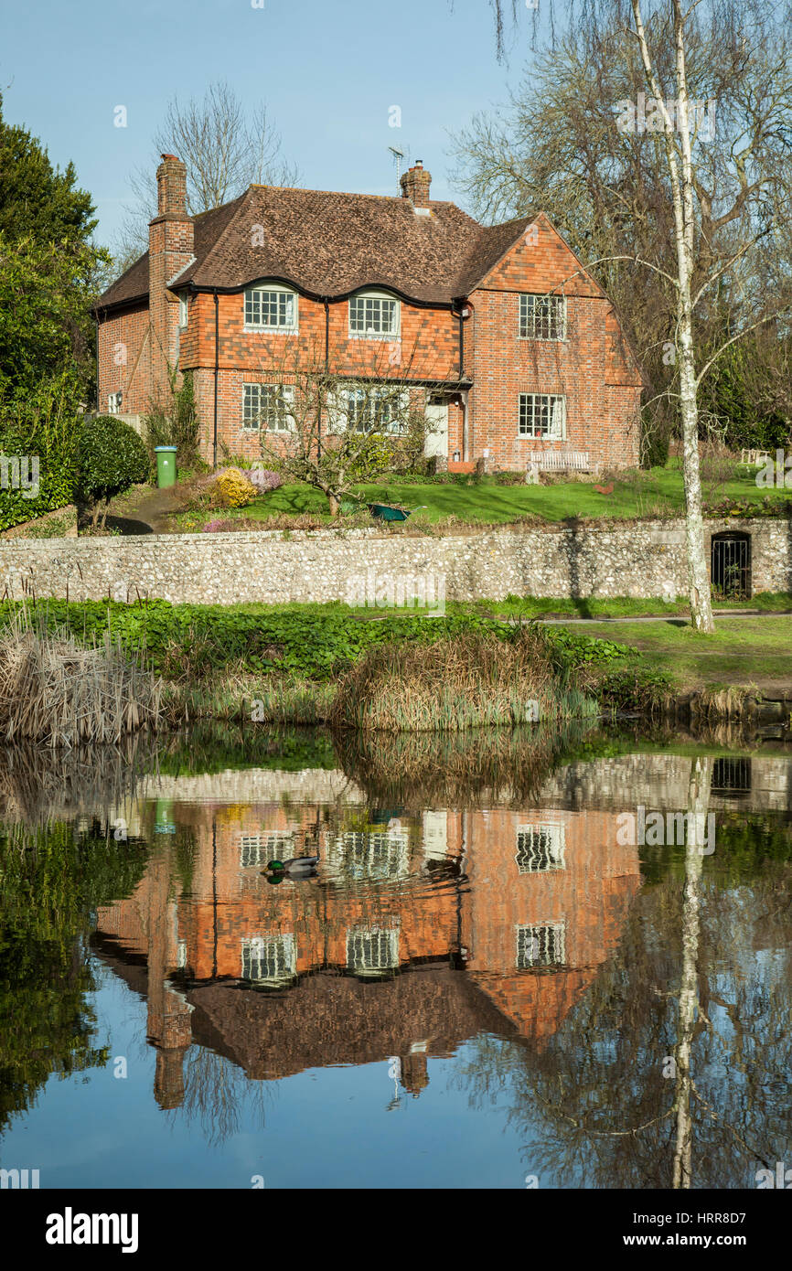
<svg viewBox="0 0 792 1271">
<path fill-rule="evenodd" d="M 524 1035 L 559 1027 L 615 948 L 638 890 L 610 812 L 463 812 L 467 969 Z M 525 974 L 530 972 L 530 974 Z"/>
</svg>

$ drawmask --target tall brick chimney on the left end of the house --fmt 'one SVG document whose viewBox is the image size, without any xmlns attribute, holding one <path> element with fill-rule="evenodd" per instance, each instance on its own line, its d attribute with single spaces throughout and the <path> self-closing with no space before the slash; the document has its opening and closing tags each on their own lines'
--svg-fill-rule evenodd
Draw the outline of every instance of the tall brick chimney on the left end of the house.
<svg viewBox="0 0 792 1271">
<path fill-rule="evenodd" d="M 149 224 L 149 318 L 151 323 L 151 394 L 168 385 L 168 365 L 179 356 L 178 296 L 168 283 L 193 258 L 195 226 L 187 215 L 187 168 L 163 155 L 156 169 L 156 216 Z"/>
</svg>

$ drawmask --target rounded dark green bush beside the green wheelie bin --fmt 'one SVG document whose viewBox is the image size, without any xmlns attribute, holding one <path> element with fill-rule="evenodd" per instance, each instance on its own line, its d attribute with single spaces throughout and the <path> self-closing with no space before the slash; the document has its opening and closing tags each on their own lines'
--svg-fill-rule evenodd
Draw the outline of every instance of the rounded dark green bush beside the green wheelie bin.
<svg viewBox="0 0 792 1271">
<path fill-rule="evenodd" d="M 112 414 L 86 419 L 78 438 L 78 493 L 90 510 L 92 525 L 109 501 L 149 475 L 149 455 L 131 425 Z M 104 501 L 104 508 L 102 502 Z"/>
</svg>

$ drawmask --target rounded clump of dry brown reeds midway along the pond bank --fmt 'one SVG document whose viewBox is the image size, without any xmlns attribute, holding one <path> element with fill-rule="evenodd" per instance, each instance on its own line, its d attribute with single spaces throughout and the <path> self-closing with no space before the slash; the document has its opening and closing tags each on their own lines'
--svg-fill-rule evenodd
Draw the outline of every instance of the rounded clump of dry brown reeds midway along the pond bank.
<svg viewBox="0 0 792 1271">
<path fill-rule="evenodd" d="M 543 634 L 524 628 L 509 641 L 470 633 L 431 644 L 376 646 L 338 683 L 331 723 L 455 732 L 594 713 L 594 700 L 558 679 Z"/>
</svg>

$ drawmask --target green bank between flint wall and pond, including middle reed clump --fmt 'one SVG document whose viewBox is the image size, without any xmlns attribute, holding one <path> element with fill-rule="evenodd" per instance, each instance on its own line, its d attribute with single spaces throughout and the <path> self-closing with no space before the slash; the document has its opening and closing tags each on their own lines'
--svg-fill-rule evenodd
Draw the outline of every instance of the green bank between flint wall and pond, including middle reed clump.
<svg viewBox="0 0 792 1271">
<path fill-rule="evenodd" d="M 170 723 L 214 718 L 421 731 L 514 726 L 534 710 L 540 718 L 585 717 L 591 699 L 604 713 L 646 714 L 674 695 L 792 689 L 792 618 L 773 611 L 788 602 L 765 597 L 768 616 L 718 618 L 712 637 L 697 634 L 676 613 L 585 627 L 530 623 L 559 609 L 562 619 L 564 610 L 572 616 L 580 602 L 516 597 L 450 605 L 445 618 L 431 620 L 339 604 L 222 608 L 159 600 L 38 601 L 28 615 L 75 648 L 109 639 L 160 676 Z M 595 614 L 609 609 L 609 616 L 651 606 L 586 604 Z M 14 602 L 0 604 L 0 632 L 18 613 Z M 717 714 L 717 702 L 714 708 Z"/>
</svg>

